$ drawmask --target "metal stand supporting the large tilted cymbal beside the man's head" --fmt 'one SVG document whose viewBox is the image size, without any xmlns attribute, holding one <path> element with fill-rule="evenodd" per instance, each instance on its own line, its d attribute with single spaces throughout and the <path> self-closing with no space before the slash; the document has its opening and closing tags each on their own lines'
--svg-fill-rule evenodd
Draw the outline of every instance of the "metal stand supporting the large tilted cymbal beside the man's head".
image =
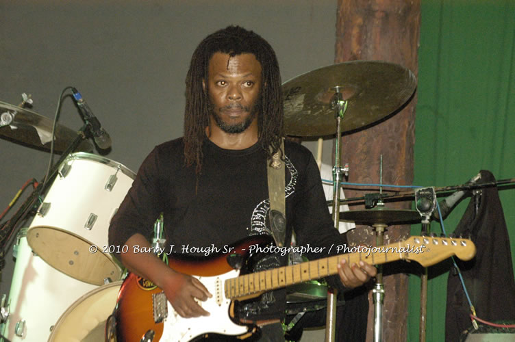
<svg viewBox="0 0 515 342">
<path fill-rule="evenodd" d="M 333 168 L 333 208 L 340 207 L 340 182 L 342 180 L 342 162 L 340 161 L 341 157 L 341 146 L 340 139 L 342 136 L 342 119 L 347 110 L 348 102 L 343 99 L 342 93 L 340 93 L 340 87 L 336 86 L 334 88 L 336 92 L 331 98 L 331 109 L 334 109 L 334 114 L 336 116 L 336 144 L 334 145 L 334 168 Z M 340 211 L 333 210 L 333 221 L 334 228 L 338 229 L 338 224 L 340 222 Z M 336 336 L 336 289 L 331 289 L 327 293 L 327 316 L 325 319 L 325 341 L 332 342 Z"/>
</svg>

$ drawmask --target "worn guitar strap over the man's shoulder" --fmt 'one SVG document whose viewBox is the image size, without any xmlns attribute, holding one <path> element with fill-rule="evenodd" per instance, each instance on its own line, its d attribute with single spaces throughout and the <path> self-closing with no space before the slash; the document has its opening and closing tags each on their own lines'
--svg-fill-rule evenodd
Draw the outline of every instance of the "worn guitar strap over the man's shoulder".
<svg viewBox="0 0 515 342">
<path fill-rule="evenodd" d="M 286 237 L 286 196 L 285 196 L 285 166 L 281 160 L 281 150 L 284 153 L 284 139 L 281 138 L 281 148 L 269 159 L 267 163 L 268 198 L 270 198 L 270 226 L 275 244 L 284 246 Z"/>
</svg>

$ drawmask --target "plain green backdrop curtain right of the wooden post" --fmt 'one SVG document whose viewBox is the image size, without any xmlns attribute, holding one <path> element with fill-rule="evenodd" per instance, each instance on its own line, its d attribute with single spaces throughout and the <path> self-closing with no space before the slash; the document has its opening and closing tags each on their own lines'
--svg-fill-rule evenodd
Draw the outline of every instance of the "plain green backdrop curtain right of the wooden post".
<svg viewBox="0 0 515 342">
<path fill-rule="evenodd" d="M 515 178 L 515 0 L 423 0 L 420 12 L 414 184 L 459 185 L 479 170 Z M 513 258 L 515 189 L 499 194 Z M 444 221 L 448 233 L 466 205 Z M 409 295 L 407 341 L 418 341 L 418 276 Z M 446 295 L 447 273 L 431 278 L 427 341 L 444 341 Z"/>
</svg>

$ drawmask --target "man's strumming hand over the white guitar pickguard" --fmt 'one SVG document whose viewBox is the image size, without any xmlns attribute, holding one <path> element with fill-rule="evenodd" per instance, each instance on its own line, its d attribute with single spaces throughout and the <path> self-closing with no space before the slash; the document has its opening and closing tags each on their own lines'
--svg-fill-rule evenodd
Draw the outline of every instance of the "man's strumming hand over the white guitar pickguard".
<svg viewBox="0 0 515 342">
<path fill-rule="evenodd" d="M 206 287 L 192 276 L 171 270 L 170 276 L 162 288 L 168 302 L 172 304 L 177 313 L 184 318 L 209 316 L 197 300 L 205 301 L 213 295 Z"/>
</svg>

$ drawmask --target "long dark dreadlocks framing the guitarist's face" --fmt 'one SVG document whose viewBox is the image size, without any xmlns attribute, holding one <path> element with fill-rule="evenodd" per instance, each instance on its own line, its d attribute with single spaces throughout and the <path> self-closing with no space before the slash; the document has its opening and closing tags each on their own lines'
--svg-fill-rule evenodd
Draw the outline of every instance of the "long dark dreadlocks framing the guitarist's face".
<svg viewBox="0 0 515 342">
<path fill-rule="evenodd" d="M 202 40 L 195 49 L 186 76 L 186 109 L 184 113 L 184 160 L 186 166 L 196 163 L 196 173 L 202 168 L 202 142 L 210 120 L 210 99 L 207 87 L 208 67 L 216 52 L 231 56 L 252 53 L 261 64 L 262 82 L 257 103 L 258 142 L 271 159 L 281 146 L 283 133 L 283 101 L 281 75 L 275 52 L 266 40 L 242 27 L 229 26 Z M 284 151 L 281 151 L 281 156 Z"/>
</svg>

